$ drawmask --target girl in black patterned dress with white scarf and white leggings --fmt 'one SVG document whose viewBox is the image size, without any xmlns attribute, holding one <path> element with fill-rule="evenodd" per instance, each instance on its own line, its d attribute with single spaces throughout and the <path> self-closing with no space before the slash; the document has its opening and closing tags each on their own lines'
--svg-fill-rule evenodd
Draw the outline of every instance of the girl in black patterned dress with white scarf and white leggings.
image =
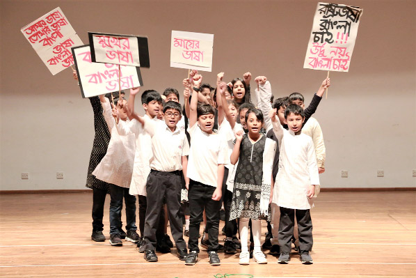
<svg viewBox="0 0 416 278">
<path fill-rule="evenodd" d="M 253 229 L 253 259 L 257 263 L 267 263 L 260 245 L 261 219 L 268 215 L 271 200 L 271 164 L 276 144 L 260 134 L 263 114 L 259 109 L 246 112 L 248 134 L 236 133 L 236 143 L 231 155 L 231 163 L 237 166 L 232 192 L 230 219 L 240 218 L 241 254 L 239 263 L 248 264 L 248 220 Z M 270 218 L 270 215 L 269 217 Z"/>
</svg>

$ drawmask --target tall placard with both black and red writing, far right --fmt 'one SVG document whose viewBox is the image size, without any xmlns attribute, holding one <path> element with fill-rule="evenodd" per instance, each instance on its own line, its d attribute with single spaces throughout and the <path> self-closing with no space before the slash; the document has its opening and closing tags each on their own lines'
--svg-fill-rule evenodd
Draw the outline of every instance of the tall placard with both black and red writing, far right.
<svg viewBox="0 0 416 278">
<path fill-rule="evenodd" d="M 318 3 L 303 68 L 348 72 L 362 9 Z"/>
</svg>

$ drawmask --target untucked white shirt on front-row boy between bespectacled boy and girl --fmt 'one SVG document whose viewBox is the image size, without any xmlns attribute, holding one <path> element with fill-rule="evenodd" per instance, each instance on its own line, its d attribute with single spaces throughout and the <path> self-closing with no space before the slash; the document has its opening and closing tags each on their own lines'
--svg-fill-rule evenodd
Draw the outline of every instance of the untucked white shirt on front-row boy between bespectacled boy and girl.
<svg viewBox="0 0 416 278">
<path fill-rule="evenodd" d="M 225 139 L 214 132 L 203 132 L 198 123 L 188 132 L 191 135 L 191 148 L 186 175 L 192 180 L 217 187 L 218 164 L 230 163 Z"/>
</svg>

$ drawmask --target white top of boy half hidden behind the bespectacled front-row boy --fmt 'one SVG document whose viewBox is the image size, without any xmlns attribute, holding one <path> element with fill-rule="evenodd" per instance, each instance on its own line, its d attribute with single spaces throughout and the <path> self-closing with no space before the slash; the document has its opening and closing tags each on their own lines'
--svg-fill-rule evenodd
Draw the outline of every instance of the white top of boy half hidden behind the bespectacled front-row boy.
<svg viewBox="0 0 416 278">
<path fill-rule="evenodd" d="M 145 115 L 143 118 L 148 118 L 152 121 L 159 121 L 156 117 L 150 119 Z M 131 195 L 146 196 L 147 176 L 150 173 L 150 160 L 152 160 L 152 138 L 150 134 L 143 129 L 143 125 L 138 121 L 130 122 L 130 130 L 136 135 L 136 153 L 134 155 L 133 176 L 131 178 L 131 185 L 129 193 Z"/>
</svg>

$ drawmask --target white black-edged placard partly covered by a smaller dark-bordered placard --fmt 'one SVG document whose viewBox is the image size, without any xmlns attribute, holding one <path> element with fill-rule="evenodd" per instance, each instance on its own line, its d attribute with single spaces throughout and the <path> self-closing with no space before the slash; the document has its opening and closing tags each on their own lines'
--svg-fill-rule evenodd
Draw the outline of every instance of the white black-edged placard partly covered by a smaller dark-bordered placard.
<svg viewBox="0 0 416 278">
<path fill-rule="evenodd" d="M 118 91 L 118 76 L 122 90 L 143 86 L 140 68 L 113 63 L 94 63 L 89 45 L 73 47 L 75 66 L 83 98 Z"/>
</svg>

